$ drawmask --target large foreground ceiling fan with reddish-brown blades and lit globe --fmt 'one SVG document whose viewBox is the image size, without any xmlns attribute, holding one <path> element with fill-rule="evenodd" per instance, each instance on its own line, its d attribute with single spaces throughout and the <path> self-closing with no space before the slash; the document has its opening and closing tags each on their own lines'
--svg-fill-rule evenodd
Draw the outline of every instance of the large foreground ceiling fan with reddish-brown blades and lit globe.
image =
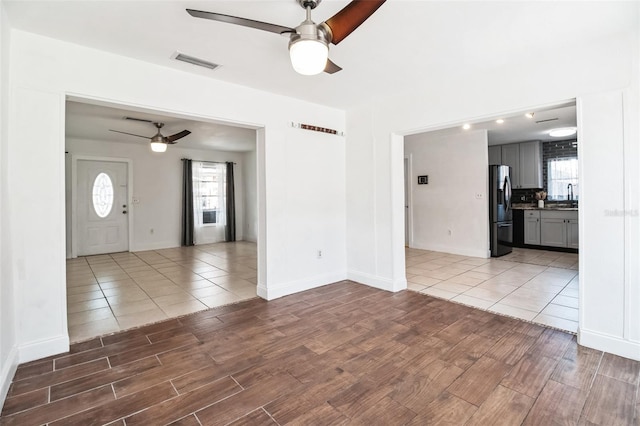
<svg viewBox="0 0 640 426">
<path fill-rule="evenodd" d="M 298 73 L 314 75 L 324 71 L 333 74 L 342 68 L 329 59 L 329 44 L 337 45 L 344 40 L 386 0 L 353 0 L 331 18 L 316 24 L 311 20 L 311 10 L 321 1 L 297 0 L 307 11 L 307 17 L 295 28 L 201 10 L 187 9 L 187 12 L 196 18 L 227 22 L 276 34 L 289 34 L 291 65 Z"/>
</svg>

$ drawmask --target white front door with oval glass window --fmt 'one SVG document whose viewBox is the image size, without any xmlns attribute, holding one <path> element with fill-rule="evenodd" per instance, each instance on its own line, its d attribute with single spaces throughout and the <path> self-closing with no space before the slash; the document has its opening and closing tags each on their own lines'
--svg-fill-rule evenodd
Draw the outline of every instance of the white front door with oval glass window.
<svg viewBox="0 0 640 426">
<path fill-rule="evenodd" d="M 127 163 L 78 160 L 78 255 L 129 250 Z"/>
</svg>

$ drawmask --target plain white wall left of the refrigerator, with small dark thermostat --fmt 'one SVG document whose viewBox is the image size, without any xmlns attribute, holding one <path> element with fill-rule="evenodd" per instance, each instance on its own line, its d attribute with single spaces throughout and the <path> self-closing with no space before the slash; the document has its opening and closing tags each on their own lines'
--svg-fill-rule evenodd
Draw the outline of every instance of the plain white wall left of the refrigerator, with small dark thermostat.
<svg viewBox="0 0 640 426">
<path fill-rule="evenodd" d="M 486 130 L 405 137 L 411 170 L 410 247 L 487 257 L 487 141 Z M 428 175 L 429 183 L 418 185 L 419 175 Z"/>
</svg>

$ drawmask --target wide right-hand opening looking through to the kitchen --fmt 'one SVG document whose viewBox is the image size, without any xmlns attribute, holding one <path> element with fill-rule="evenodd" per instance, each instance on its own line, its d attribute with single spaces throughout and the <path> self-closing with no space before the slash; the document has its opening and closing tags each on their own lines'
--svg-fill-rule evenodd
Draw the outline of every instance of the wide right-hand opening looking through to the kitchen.
<svg viewBox="0 0 640 426">
<path fill-rule="evenodd" d="M 557 165 L 577 158 L 578 139 L 575 133 L 554 138 L 549 132 L 555 128 L 576 128 L 575 101 L 405 137 L 413 168 L 407 179 L 414 218 L 407 223 L 412 242 L 405 249 L 409 289 L 577 331 L 579 203 L 559 172 L 571 168 Z M 489 255 L 492 164 L 514 173 L 514 213 L 538 218 L 537 227 L 529 227 L 514 214 L 512 250 L 497 258 Z M 427 172 L 429 183 L 418 185 L 418 175 Z M 578 186 L 577 173 L 567 179 Z M 555 199 L 538 208 L 536 198 L 545 198 L 550 186 Z M 527 230 L 537 243 L 525 238 Z"/>
</svg>

